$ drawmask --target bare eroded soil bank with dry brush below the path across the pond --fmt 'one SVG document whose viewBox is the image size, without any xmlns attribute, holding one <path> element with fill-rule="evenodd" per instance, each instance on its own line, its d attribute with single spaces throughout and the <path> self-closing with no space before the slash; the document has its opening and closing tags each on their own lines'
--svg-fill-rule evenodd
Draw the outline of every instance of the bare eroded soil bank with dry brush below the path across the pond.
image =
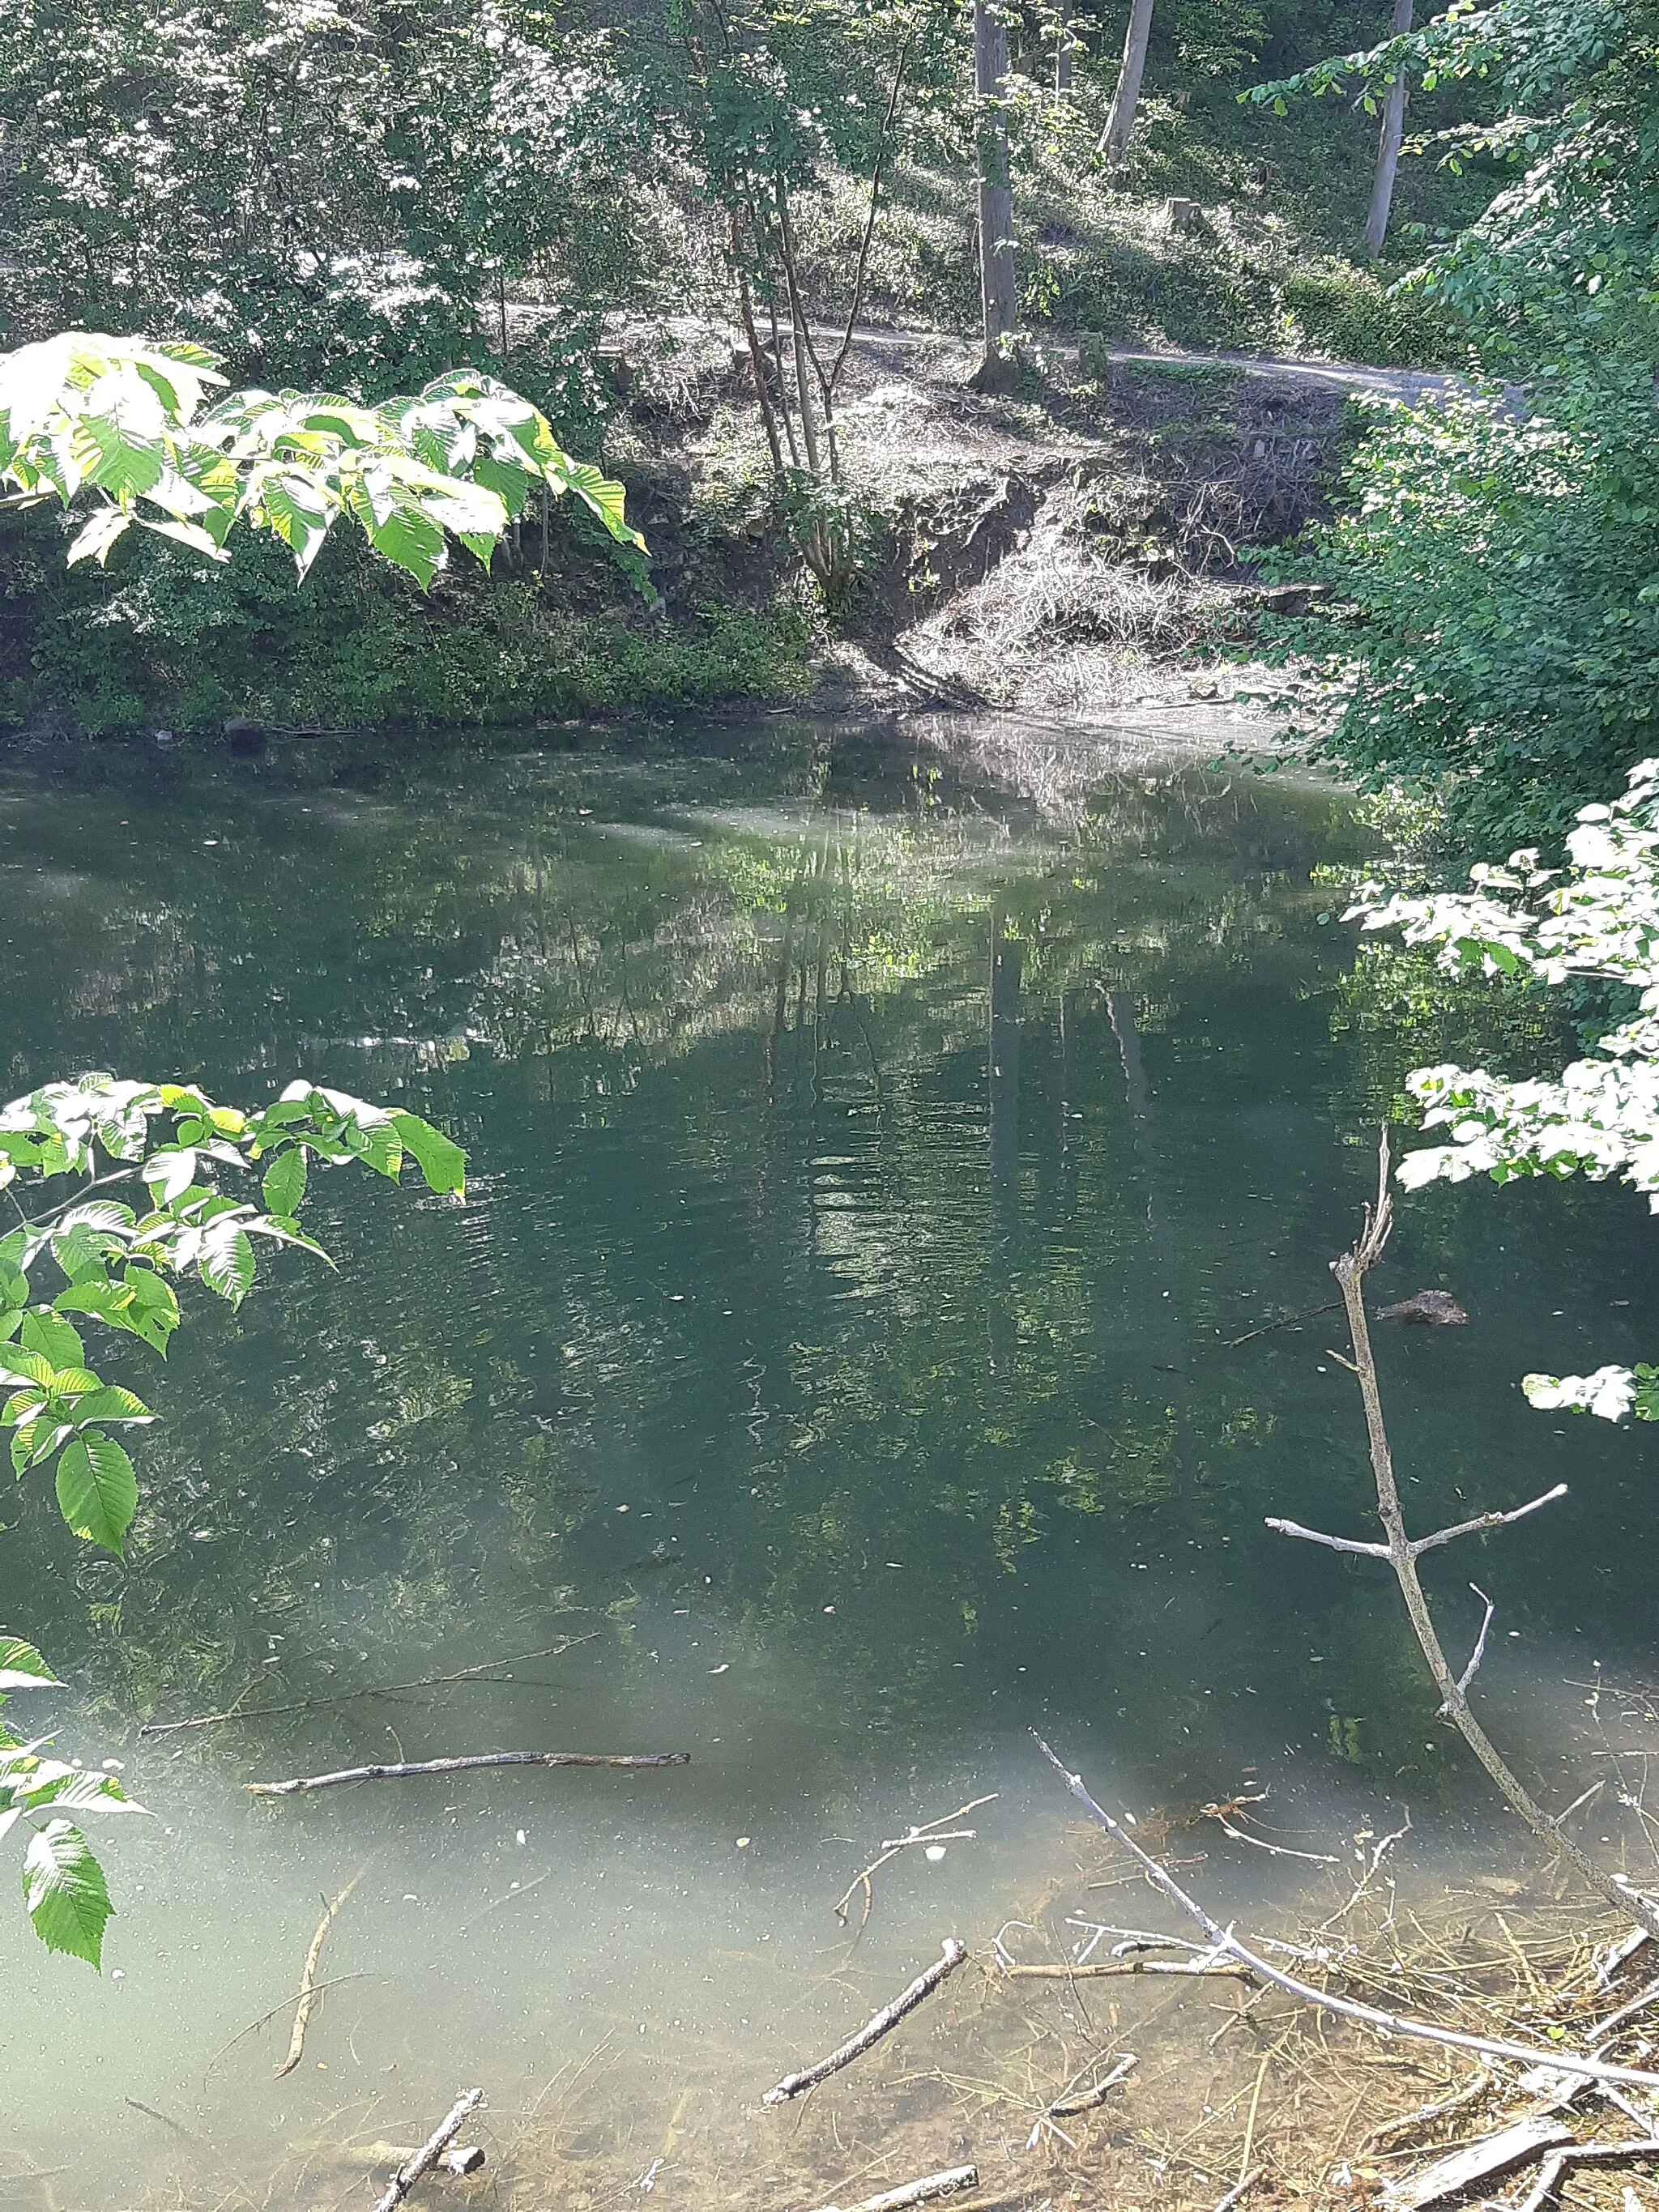
<svg viewBox="0 0 1659 2212">
<path fill-rule="evenodd" d="M 666 611 L 790 588 L 730 332 L 641 325 L 611 358 L 628 394 L 613 462 Z M 973 365 L 940 332 L 847 347 L 841 445 L 869 542 L 823 646 L 823 701 L 1075 723 L 1276 690 L 1239 648 L 1263 608 L 1298 613 L 1307 591 L 1263 584 L 1256 555 L 1325 513 L 1349 398 L 1444 383 L 1084 341 L 1033 352 L 1022 389 L 991 396 Z"/>
</svg>

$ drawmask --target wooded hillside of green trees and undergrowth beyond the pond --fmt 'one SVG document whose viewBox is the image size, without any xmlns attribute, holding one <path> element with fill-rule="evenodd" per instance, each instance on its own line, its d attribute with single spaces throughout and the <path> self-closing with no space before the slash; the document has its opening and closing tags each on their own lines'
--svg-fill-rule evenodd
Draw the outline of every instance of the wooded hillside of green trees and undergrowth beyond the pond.
<svg viewBox="0 0 1659 2212">
<path fill-rule="evenodd" d="M 1400 38 L 1407 18 L 1037 0 L 989 18 L 1006 64 L 987 77 L 980 53 L 975 91 L 973 15 L 931 0 L 159 20 L 31 0 L 0 33 L 4 343 L 142 330 L 210 345 L 237 385 L 367 400 L 487 365 L 630 484 L 653 562 L 619 564 L 591 518 L 526 513 L 489 573 L 458 564 L 431 593 L 347 540 L 305 584 L 276 544 L 212 577 L 157 540 L 66 575 L 62 518 L 9 513 L 0 717 L 108 732 L 799 697 L 827 639 L 891 635 L 894 599 L 914 613 L 940 582 L 902 440 L 867 392 L 849 405 L 845 334 L 973 338 L 991 268 L 1006 374 L 960 394 L 964 456 L 987 427 L 1053 442 L 1121 416 L 1113 345 L 1467 376 L 1449 403 L 1327 422 L 1298 498 L 1197 551 L 1181 529 L 1126 551 L 1146 515 L 1093 500 L 1073 518 L 1093 566 L 1051 628 L 1091 608 L 1099 628 L 1106 573 L 1254 575 L 1279 544 L 1274 573 L 1323 584 L 1312 628 L 1274 639 L 1323 672 L 1303 737 L 1374 783 L 1460 772 L 1486 847 L 1559 834 L 1617 792 L 1648 714 L 1630 580 L 1652 568 L 1650 27 L 1555 0 Z M 1378 133 L 1407 82 L 1378 237 Z M 982 261 L 1000 161 L 1009 241 Z M 1141 460 L 1217 387 L 1177 398 Z M 1237 608 L 1214 613 L 1166 593 L 1166 659 L 1237 646 Z"/>
</svg>

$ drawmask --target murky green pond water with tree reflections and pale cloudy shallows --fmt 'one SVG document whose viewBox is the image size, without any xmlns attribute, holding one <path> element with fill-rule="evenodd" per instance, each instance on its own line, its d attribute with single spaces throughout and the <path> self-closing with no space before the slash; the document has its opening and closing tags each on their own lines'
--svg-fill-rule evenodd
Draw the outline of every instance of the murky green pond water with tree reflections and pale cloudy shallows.
<svg viewBox="0 0 1659 2212">
<path fill-rule="evenodd" d="M 743 2139 L 1066 1860 L 1033 1723 L 1141 1809 L 1254 1781 L 1303 1849 L 1405 1801 L 1425 1865 L 1520 1854 L 1380 1571 L 1263 1528 L 1365 1533 L 1340 1316 L 1225 1349 L 1334 1294 L 1405 1068 L 1482 1048 L 1420 978 L 1356 978 L 1314 872 L 1360 852 L 1314 785 L 1137 759 L 1055 823 L 796 721 L 0 768 L 4 1095 L 307 1075 L 471 1157 L 465 1206 L 314 1179 L 336 1272 L 283 1254 L 241 1314 L 188 1296 L 166 1367 L 104 1358 L 164 1416 L 126 1566 L 42 1482 L 2 1506 L 0 1621 L 71 1683 L 29 1725 L 153 1818 L 102 1829 L 104 1980 L 0 1916 L 0 2203 L 367 2201 L 307 2159 L 416 2141 L 473 2079 L 507 2201 L 538 2115 L 699 2201 L 692 2070 Z M 1573 1484 L 1433 1586 L 1453 1646 L 1469 1575 L 1500 1597 L 1493 1725 L 1548 1787 L 1590 1666 L 1650 1650 L 1652 1453 L 1515 1380 L 1650 1352 L 1655 1250 L 1619 1190 L 1436 1190 L 1376 1279 L 1471 1310 L 1380 1332 L 1418 1524 Z M 232 1701 L 270 1717 L 137 1736 Z M 493 1747 L 692 1765 L 241 1792 Z M 852 1874 L 987 1792 L 847 1964 Z M 1197 1851 L 1234 1909 L 1294 1880 Z M 358 1869 L 352 1980 L 272 2079 L 288 2015 L 223 2046 Z"/>
</svg>

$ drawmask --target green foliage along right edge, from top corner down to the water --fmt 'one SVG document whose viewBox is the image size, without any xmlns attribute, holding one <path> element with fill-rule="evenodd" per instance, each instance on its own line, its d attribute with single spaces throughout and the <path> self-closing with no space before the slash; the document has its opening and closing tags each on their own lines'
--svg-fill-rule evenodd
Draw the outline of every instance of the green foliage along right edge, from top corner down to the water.
<svg viewBox="0 0 1659 2212">
<path fill-rule="evenodd" d="M 1336 686 L 1314 750 L 1367 790 L 1455 779 L 1475 843 L 1559 838 L 1652 743 L 1657 27 L 1650 0 L 1491 0 L 1252 95 L 1376 106 L 1405 75 L 1498 111 L 1433 139 L 1511 181 L 1391 296 L 1453 316 L 1526 392 L 1383 414 L 1314 549 L 1336 630 L 1292 639 Z"/>
</svg>

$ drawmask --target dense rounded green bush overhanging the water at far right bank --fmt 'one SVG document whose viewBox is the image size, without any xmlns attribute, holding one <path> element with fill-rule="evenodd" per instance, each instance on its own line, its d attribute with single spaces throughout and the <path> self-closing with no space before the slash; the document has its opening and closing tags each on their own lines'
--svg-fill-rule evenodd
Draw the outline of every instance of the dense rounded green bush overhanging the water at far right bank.
<svg viewBox="0 0 1659 2212">
<path fill-rule="evenodd" d="M 1444 792 L 1469 843 L 1555 841 L 1652 745 L 1659 429 L 1646 372 L 1380 407 L 1338 520 L 1279 573 L 1334 588 L 1281 626 L 1336 686 L 1307 732 L 1360 781 Z"/>
</svg>

